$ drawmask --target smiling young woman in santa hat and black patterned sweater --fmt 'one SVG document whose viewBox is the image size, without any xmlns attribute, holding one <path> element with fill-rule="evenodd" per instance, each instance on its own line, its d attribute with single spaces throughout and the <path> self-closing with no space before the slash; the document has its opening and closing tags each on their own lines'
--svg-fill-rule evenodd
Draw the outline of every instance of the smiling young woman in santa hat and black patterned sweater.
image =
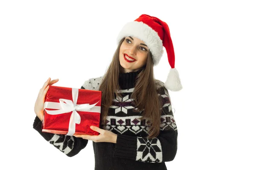
<svg viewBox="0 0 256 170">
<path fill-rule="evenodd" d="M 177 152 L 177 126 L 167 89 L 179 91 L 174 50 L 166 23 L 143 14 L 120 31 L 118 47 L 107 72 L 84 82 L 82 89 L 102 91 L 99 132 L 91 135 L 58 135 L 42 132 L 48 79 L 35 102 L 34 129 L 67 156 L 75 156 L 93 141 L 95 170 L 166 170 Z M 171 71 L 165 83 L 154 79 L 166 48 Z"/>
</svg>

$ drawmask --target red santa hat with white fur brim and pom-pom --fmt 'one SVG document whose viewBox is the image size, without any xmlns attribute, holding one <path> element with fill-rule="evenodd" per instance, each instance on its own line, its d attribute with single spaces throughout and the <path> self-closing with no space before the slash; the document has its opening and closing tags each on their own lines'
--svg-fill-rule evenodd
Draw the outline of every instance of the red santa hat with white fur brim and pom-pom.
<svg viewBox="0 0 256 170">
<path fill-rule="evenodd" d="M 123 37 L 137 37 L 144 41 L 151 51 L 154 66 L 157 65 L 163 56 L 163 46 L 166 49 L 171 69 L 165 82 L 165 87 L 171 91 L 180 91 L 182 85 L 178 71 L 174 67 L 175 54 L 168 25 L 157 17 L 147 14 L 140 15 L 136 20 L 126 23 L 117 36 L 117 43 Z"/>
</svg>

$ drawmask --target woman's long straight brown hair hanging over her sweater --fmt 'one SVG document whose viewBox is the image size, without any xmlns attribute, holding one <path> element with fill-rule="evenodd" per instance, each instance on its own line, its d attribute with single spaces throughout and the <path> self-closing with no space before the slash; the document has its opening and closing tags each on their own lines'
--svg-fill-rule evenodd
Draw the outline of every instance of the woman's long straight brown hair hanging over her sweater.
<svg viewBox="0 0 256 170">
<path fill-rule="evenodd" d="M 108 108 L 112 105 L 112 101 L 115 97 L 114 94 L 122 97 L 122 94 L 117 92 L 120 90 L 118 79 L 122 67 L 119 62 L 119 50 L 124 40 L 125 37 L 120 40 L 119 45 L 113 55 L 112 62 L 103 76 L 102 82 L 99 86 L 99 91 L 102 91 L 102 110 L 100 121 L 102 122 L 102 125 L 105 125 L 106 116 L 108 116 Z M 133 111 L 143 111 L 140 120 L 149 120 L 148 139 L 157 137 L 160 132 L 162 102 L 157 94 L 157 84 L 153 73 L 153 59 L 150 51 L 148 52 L 146 64 L 136 77 L 136 83 L 134 91 L 131 94 L 131 99 L 134 99 L 133 104 L 136 108 Z"/>
</svg>

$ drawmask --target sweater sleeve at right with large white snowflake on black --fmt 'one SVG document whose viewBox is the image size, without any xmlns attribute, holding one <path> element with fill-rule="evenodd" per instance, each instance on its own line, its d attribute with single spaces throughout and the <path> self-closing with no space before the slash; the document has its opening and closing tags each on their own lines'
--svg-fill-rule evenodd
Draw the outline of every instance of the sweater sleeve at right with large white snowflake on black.
<svg viewBox="0 0 256 170">
<path fill-rule="evenodd" d="M 166 88 L 160 88 L 163 107 L 160 133 L 153 139 L 117 134 L 113 156 L 147 163 L 172 161 L 177 153 L 177 126 Z M 166 114 L 167 113 L 167 114 Z"/>
</svg>

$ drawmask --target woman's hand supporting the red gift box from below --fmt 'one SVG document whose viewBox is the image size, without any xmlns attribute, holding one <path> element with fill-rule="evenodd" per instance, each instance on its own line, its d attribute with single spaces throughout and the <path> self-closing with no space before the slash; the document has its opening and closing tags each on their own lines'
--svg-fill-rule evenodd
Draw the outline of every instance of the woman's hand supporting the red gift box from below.
<svg viewBox="0 0 256 170">
<path fill-rule="evenodd" d="M 104 130 L 96 126 L 90 126 L 90 128 L 96 132 L 99 132 L 99 135 L 84 135 L 77 134 L 73 135 L 79 138 L 91 140 L 93 142 L 111 142 L 116 143 L 117 135 L 109 130 Z"/>
</svg>

